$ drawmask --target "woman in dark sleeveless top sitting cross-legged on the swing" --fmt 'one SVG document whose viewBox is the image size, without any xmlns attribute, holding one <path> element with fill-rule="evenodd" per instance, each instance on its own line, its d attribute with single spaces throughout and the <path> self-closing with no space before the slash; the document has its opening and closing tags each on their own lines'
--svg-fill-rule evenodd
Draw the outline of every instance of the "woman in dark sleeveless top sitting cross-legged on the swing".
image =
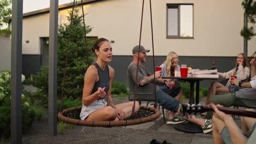
<svg viewBox="0 0 256 144">
<path fill-rule="evenodd" d="M 132 114 L 133 101 L 114 105 L 111 97 L 114 69 L 107 63 L 112 60 L 112 46 L 104 38 L 96 40 L 92 51 L 97 61 L 90 65 L 84 76 L 83 107 L 80 118 L 85 121 L 120 121 Z M 139 104 L 135 103 L 135 112 Z"/>
</svg>

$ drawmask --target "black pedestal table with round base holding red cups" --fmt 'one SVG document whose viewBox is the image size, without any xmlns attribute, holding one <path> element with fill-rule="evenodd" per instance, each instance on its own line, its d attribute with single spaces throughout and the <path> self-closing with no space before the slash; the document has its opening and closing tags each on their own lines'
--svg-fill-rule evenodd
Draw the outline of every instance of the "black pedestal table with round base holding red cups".
<svg viewBox="0 0 256 144">
<path fill-rule="evenodd" d="M 189 104 L 195 104 L 194 101 L 194 85 L 196 83 L 196 104 L 199 103 L 199 88 L 200 81 L 202 80 L 217 80 L 212 77 L 177 77 L 177 76 L 163 76 L 162 79 L 178 79 L 188 81 L 190 83 L 190 98 Z M 201 126 L 192 122 L 184 122 L 174 127 L 176 130 L 183 131 L 185 133 L 202 133 Z"/>
</svg>

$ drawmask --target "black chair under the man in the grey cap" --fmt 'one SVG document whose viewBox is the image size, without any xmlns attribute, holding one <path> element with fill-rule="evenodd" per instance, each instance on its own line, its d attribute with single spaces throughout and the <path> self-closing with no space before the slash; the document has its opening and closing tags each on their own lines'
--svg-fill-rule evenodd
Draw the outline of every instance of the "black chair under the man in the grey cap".
<svg viewBox="0 0 256 144">
<path fill-rule="evenodd" d="M 130 101 L 134 100 L 134 95 L 135 95 L 135 93 L 130 93 L 128 95 Z M 136 94 L 136 100 L 139 101 L 139 105 L 141 105 L 141 101 L 148 101 L 148 103 L 147 103 L 147 106 L 148 106 L 150 101 L 154 101 L 155 102 L 155 94 L 154 93 L 137 93 Z M 160 109 L 160 105 L 159 105 L 158 109 Z M 162 107 L 162 115 L 164 117 L 164 122 L 165 122 L 165 110 L 164 110 L 164 107 Z"/>
</svg>

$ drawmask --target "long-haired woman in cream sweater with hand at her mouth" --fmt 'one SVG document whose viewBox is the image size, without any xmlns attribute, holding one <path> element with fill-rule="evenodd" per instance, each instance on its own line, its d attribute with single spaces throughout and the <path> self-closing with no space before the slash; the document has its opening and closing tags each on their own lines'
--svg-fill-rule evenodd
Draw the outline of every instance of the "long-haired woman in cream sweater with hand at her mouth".
<svg viewBox="0 0 256 144">
<path fill-rule="evenodd" d="M 220 77 L 224 79 L 229 79 L 228 83 L 226 83 L 226 86 L 222 85 L 222 83 L 219 82 L 212 82 L 211 87 L 209 88 L 207 99 L 206 99 L 206 105 L 209 104 L 209 99 L 213 95 L 217 94 L 225 94 L 229 93 L 229 86 L 231 85 L 230 80 L 231 80 L 231 75 L 237 76 L 238 81 L 245 80 L 249 77 L 250 75 L 250 70 L 249 70 L 249 62 L 248 58 L 244 53 L 239 53 L 237 58 L 236 58 L 236 65 L 234 69 L 231 69 L 230 71 L 226 73 L 218 73 Z M 234 78 L 232 78 L 234 79 Z"/>
</svg>

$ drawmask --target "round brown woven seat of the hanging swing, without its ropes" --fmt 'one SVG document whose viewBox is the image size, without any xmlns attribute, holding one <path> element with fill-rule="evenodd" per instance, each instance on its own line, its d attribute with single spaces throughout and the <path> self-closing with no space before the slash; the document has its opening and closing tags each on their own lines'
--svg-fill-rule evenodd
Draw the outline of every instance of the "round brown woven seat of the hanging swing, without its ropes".
<svg viewBox="0 0 256 144">
<path fill-rule="evenodd" d="M 82 106 L 71 107 L 58 113 L 58 118 L 75 125 L 86 125 L 89 127 L 120 127 L 133 124 L 141 124 L 154 121 L 160 116 L 159 110 L 155 107 L 141 106 L 139 111 L 132 118 L 122 121 L 83 121 L 80 119 Z"/>
</svg>

